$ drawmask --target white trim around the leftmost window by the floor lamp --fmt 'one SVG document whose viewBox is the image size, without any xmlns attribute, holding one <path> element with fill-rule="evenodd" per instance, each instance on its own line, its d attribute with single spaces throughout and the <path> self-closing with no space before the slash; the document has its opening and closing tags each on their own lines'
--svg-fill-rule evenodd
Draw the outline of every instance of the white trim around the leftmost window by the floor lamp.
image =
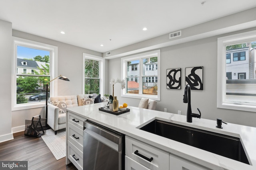
<svg viewBox="0 0 256 170">
<path fill-rule="evenodd" d="M 33 102 L 33 103 L 26 103 L 26 104 L 16 104 L 16 66 L 17 66 L 17 59 L 16 59 L 16 47 L 23 46 L 23 47 L 34 47 L 36 49 L 47 50 L 50 51 L 50 69 L 54 68 L 50 71 L 50 80 L 58 76 L 58 47 L 53 45 L 48 45 L 44 43 L 39 43 L 36 41 L 31 41 L 27 39 L 22 39 L 18 37 L 13 37 L 13 57 L 12 57 L 12 111 L 16 110 L 23 110 L 23 109 L 33 109 L 38 107 L 45 107 L 46 102 Z M 58 92 L 58 81 L 50 82 L 50 86 L 54 88 L 50 88 L 51 96 L 57 96 Z"/>
</svg>

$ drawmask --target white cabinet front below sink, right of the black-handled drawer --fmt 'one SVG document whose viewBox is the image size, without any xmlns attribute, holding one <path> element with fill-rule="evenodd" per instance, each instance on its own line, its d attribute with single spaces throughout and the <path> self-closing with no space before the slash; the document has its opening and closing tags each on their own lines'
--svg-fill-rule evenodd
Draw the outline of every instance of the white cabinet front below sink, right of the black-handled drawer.
<svg viewBox="0 0 256 170">
<path fill-rule="evenodd" d="M 170 155 L 170 170 L 206 170 L 192 162 Z"/>
</svg>

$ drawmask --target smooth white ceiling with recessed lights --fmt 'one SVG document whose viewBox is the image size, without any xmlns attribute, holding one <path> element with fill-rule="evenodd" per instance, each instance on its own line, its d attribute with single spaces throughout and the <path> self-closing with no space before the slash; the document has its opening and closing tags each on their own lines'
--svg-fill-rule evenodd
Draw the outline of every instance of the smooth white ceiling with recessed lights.
<svg viewBox="0 0 256 170">
<path fill-rule="evenodd" d="M 202 1 L 0 0 L 0 20 L 18 31 L 104 53 L 256 7 L 256 0 Z"/>
</svg>

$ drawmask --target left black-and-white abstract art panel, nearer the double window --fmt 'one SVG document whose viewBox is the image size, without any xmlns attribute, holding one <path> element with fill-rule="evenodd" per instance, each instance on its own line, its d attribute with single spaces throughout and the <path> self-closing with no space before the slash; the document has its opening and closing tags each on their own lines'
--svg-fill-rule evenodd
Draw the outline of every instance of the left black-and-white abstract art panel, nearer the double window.
<svg viewBox="0 0 256 170">
<path fill-rule="evenodd" d="M 173 68 L 166 70 L 166 88 L 180 89 L 181 86 L 181 68 Z"/>
</svg>

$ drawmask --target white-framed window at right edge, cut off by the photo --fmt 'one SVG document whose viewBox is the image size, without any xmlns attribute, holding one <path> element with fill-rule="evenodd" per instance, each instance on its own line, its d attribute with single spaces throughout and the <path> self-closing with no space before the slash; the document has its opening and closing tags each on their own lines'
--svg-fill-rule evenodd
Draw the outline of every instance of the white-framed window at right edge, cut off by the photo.
<svg viewBox="0 0 256 170">
<path fill-rule="evenodd" d="M 217 107 L 256 111 L 255 58 L 256 31 L 218 38 Z"/>
</svg>

